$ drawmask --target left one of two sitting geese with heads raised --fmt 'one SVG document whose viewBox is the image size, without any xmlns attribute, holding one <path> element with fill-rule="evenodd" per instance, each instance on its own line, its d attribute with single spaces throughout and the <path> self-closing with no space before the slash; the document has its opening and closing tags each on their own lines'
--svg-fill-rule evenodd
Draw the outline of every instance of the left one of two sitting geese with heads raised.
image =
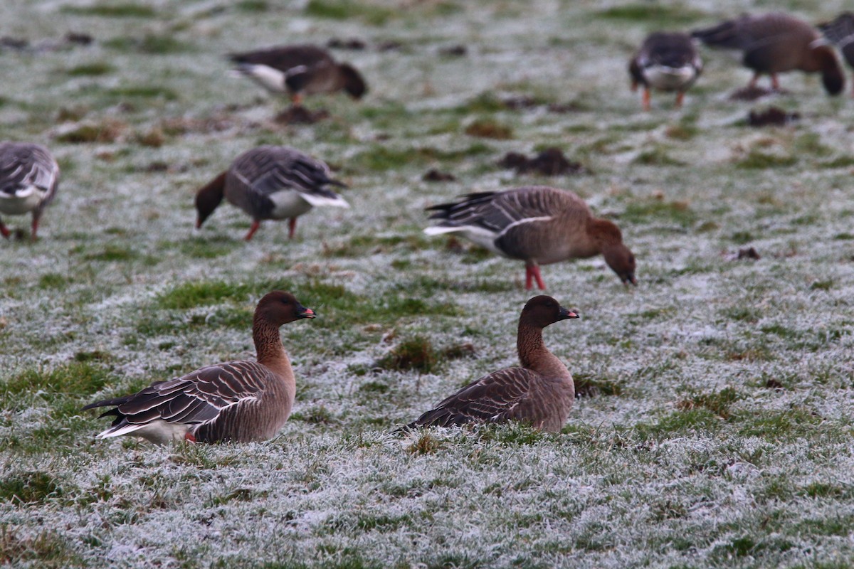
<svg viewBox="0 0 854 569">
<path fill-rule="evenodd" d="M 83 409 L 115 405 L 101 415 L 114 415 L 115 420 L 97 438 L 133 434 L 155 444 L 184 439 L 219 443 L 271 438 L 288 420 L 296 389 L 278 328 L 314 316 L 314 311 L 301 305 L 293 294 L 278 290 L 267 293 L 260 299 L 252 323 L 257 362 L 209 365 Z"/>
</svg>

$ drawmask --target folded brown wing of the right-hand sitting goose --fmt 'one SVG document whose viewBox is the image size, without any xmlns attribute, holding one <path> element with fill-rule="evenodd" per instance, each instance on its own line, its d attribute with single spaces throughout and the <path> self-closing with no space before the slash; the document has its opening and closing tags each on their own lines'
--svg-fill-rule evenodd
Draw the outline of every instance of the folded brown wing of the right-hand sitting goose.
<svg viewBox="0 0 854 569">
<path fill-rule="evenodd" d="M 465 423 L 531 420 L 531 395 L 540 374 L 506 368 L 484 375 L 412 421 L 407 427 L 452 427 Z"/>
</svg>

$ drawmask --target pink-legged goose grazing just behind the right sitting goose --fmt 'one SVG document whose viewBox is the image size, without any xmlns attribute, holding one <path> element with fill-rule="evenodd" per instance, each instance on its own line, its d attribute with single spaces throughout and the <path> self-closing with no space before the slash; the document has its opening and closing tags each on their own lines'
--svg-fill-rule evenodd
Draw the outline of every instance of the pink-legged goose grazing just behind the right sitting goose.
<svg viewBox="0 0 854 569">
<path fill-rule="evenodd" d="M 427 208 L 440 223 L 427 235 L 453 233 L 493 253 L 525 262 L 525 288 L 541 290 L 541 264 L 602 254 L 620 281 L 637 284 L 635 255 L 623 245 L 617 225 L 594 218 L 572 192 L 547 186 L 526 186 L 504 192 L 481 192 L 463 200 Z"/>
</svg>

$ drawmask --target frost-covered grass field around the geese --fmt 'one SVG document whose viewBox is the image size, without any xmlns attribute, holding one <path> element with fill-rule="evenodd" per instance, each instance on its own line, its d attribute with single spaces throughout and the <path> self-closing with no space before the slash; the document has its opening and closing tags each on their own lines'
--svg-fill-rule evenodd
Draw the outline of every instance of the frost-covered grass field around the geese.
<svg viewBox="0 0 854 569">
<path fill-rule="evenodd" d="M 41 239 L 0 242 L 0 562 L 852 566 L 851 85 L 793 73 L 734 102 L 750 73 L 704 50 L 681 111 L 629 92 L 646 32 L 747 8 L 845 3 L 4 0 L 0 35 L 30 48 L 0 49 L 0 139 L 49 146 L 63 179 Z M 371 90 L 309 98 L 317 124 L 277 124 L 283 99 L 227 76 L 229 51 L 330 38 L 366 42 L 336 55 Z M 745 125 L 769 104 L 801 120 Z M 231 206 L 193 229 L 195 190 L 259 143 L 327 160 L 352 208 L 295 241 L 243 241 Z M 589 173 L 496 165 L 548 146 Z M 528 183 L 582 195 L 638 258 L 629 290 L 601 258 L 543 268 L 582 313 L 546 332 L 583 394 L 570 421 L 393 434 L 516 362 L 530 296 L 521 263 L 424 236 L 424 206 Z M 273 287 L 320 315 L 282 328 L 298 387 L 277 438 L 94 440 L 84 404 L 252 357 Z"/>
</svg>

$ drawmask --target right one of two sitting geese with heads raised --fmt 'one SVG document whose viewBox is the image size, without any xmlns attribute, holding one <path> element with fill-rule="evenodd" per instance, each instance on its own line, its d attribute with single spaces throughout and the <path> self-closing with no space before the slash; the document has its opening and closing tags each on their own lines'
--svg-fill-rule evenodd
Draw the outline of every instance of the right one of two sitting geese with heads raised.
<svg viewBox="0 0 854 569">
<path fill-rule="evenodd" d="M 407 428 L 451 427 L 465 423 L 524 421 L 558 433 L 576 396 L 572 375 L 542 341 L 542 328 L 577 318 L 550 296 L 528 301 L 519 317 L 516 345 L 521 368 L 484 375 L 412 421 Z"/>
</svg>

